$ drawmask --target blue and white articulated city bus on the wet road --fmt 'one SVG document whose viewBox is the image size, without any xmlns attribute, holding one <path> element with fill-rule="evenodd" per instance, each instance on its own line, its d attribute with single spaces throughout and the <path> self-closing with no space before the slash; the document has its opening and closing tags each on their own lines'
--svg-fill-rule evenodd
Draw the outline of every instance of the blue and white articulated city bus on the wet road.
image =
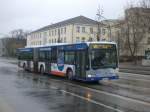
<svg viewBox="0 0 150 112">
<path fill-rule="evenodd" d="M 85 42 L 19 48 L 18 66 L 69 80 L 118 79 L 117 46 L 114 42 Z"/>
</svg>

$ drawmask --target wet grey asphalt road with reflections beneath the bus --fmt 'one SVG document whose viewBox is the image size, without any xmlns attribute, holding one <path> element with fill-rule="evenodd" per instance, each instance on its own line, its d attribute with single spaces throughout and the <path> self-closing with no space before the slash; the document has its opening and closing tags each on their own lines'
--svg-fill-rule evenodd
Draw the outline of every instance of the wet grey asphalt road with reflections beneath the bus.
<svg viewBox="0 0 150 112">
<path fill-rule="evenodd" d="M 150 76 L 100 84 L 28 73 L 0 58 L 0 112 L 150 112 Z"/>
</svg>

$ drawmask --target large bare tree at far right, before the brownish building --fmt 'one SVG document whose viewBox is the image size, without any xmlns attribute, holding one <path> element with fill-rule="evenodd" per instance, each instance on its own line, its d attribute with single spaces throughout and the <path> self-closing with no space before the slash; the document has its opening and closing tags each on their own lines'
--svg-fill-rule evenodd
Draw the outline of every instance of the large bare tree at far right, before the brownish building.
<svg viewBox="0 0 150 112">
<path fill-rule="evenodd" d="M 145 7 L 145 5 L 143 7 Z M 138 52 L 140 52 L 141 43 L 149 28 L 150 12 L 147 14 L 145 10 L 147 9 L 133 7 L 133 5 L 131 5 L 130 8 L 125 11 L 125 45 L 135 63 L 137 62 L 136 57 Z"/>
</svg>

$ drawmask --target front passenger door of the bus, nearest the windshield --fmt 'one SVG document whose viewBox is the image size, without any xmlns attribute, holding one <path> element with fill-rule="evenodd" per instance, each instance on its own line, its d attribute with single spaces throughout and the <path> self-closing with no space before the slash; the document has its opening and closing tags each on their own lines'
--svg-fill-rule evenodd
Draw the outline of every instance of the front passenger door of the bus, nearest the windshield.
<svg viewBox="0 0 150 112">
<path fill-rule="evenodd" d="M 85 52 L 77 51 L 76 52 L 76 76 L 84 78 L 85 73 Z"/>
</svg>

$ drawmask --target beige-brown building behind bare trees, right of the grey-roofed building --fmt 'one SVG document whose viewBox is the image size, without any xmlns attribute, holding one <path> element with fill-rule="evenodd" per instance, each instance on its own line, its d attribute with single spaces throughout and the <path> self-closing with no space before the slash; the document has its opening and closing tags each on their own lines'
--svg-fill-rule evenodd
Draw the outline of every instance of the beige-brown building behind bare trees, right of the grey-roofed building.
<svg viewBox="0 0 150 112">
<path fill-rule="evenodd" d="M 101 23 L 101 38 L 117 42 L 121 56 L 130 56 L 127 36 L 133 41 L 136 35 L 136 41 L 139 41 L 136 56 L 144 56 L 145 50 L 150 49 L 150 8 L 129 8 L 125 10 L 125 17 L 122 20 L 104 20 Z M 132 44 L 133 42 L 131 46 Z"/>
</svg>

